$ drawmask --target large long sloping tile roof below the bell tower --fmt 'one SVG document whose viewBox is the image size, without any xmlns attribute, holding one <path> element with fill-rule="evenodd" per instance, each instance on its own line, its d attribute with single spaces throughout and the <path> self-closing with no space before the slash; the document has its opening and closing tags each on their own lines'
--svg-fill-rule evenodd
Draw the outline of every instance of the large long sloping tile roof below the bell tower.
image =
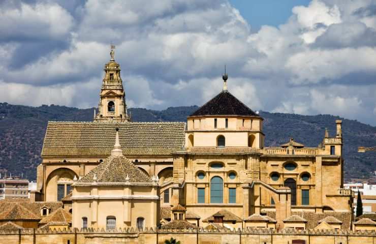
<svg viewBox="0 0 376 244">
<path fill-rule="evenodd" d="M 184 147 L 185 123 L 180 122 L 56 122 L 50 121 L 42 157 L 90 156 L 106 158 L 119 128 L 124 155 L 169 155 Z"/>
</svg>

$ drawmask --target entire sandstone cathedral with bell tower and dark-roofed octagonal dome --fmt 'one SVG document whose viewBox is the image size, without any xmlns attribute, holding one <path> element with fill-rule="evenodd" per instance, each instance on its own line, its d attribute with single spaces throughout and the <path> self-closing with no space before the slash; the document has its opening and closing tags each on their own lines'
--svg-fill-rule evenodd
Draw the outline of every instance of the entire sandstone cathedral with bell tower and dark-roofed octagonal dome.
<svg viewBox="0 0 376 244">
<path fill-rule="evenodd" d="M 222 78 L 186 123 L 133 122 L 111 50 L 93 121 L 48 123 L 34 200 L 69 199 L 75 228 L 351 229 L 341 120 L 318 147 L 265 146 L 263 118 Z"/>
</svg>

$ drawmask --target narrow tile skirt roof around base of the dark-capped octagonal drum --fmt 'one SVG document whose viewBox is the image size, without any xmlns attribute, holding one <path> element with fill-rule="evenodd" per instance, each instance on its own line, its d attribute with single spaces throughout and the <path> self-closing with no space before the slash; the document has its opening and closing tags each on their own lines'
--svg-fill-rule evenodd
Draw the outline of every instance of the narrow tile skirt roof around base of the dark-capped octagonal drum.
<svg viewBox="0 0 376 244">
<path fill-rule="evenodd" d="M 247 146 L 194 146 L 186 150 L 189 154 L 252 154 L 259 150 Z"/>
</svg>

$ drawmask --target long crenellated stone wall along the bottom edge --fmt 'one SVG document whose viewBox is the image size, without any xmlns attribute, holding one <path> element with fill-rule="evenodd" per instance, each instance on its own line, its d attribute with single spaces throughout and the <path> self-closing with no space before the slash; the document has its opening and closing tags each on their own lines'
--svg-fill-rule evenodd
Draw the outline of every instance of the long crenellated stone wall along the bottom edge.
<svg viewBox="0 0 376 244">
<path fill-rule="evenodd" d="M 166 239 L 175 238 L 181 244 L 293 244 L 294 240 L 304 240 L 306 244 L 373 244 L 376 232 L 373 231 L 339 231 L 339 230 L 305 230 L 297 231 L 283 229 L 274 231 L 269 229 L 240 229 L 206 231 L 204 229 L 158 230 L 134 228 L 105 231 L 103 229 L 87 230 L 0 230 L 0 243 L 6 244 L 163 244 Z M 158 241 L 157 241 L 158 239 Z M 298 243 L 298 242 L 297 242 Z M 299 242 L 300 243 L 300 242 Z"/>
</svg>

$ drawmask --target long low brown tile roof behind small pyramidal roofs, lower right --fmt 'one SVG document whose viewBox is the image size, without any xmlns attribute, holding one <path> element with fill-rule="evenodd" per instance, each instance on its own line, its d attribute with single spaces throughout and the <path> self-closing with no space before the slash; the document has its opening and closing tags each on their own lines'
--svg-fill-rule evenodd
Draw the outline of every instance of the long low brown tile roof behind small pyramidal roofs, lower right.
<svg viewBox="0 0 376 244">
<path fill-rule="evenodd" d="M 272 219 L 275 219 L 275 211 L 262 211 L 262 214 L 266 214 Z M 323 212 L 323 213 L 316 213 L 311 211 L 292 211 L 292 215 L 297 215 L 305 220 L 307 220 L 306 228 L 307 229 L 314 229 L 320 223 L 319 221 L 325 219 L 328 216 L 332 216 L 337 220 L 342 222 L 341 229 L 342 230 L 350 230 L 351 227 L 351 212 Z"/>
</svg>

